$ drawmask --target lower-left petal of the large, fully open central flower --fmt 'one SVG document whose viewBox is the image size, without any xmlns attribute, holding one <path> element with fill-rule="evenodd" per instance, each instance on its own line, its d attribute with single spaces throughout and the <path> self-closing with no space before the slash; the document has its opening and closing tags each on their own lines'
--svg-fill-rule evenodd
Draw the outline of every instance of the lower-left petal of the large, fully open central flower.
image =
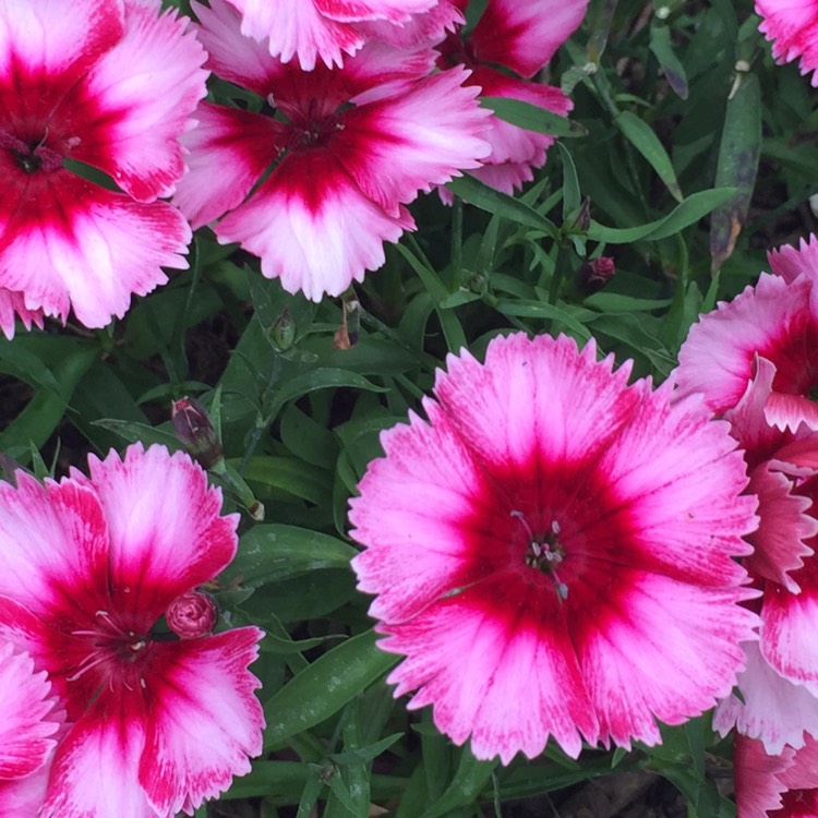
<svg viewBox="0 0 818 818">
<path fill-rule="evenodd" d="M 389 675 L 411 709 L 434 705 L 456 744 L 508 763 L 542 753 L 550 735 L 576 758 L 599 727 L 556 593 L 515 593 L 500 575 L 442 600 L 404 625 L 382 625 L 384 650 L 406 653 Z M 580 735 L 581 734 L 581 735 Z"/>
</svg>

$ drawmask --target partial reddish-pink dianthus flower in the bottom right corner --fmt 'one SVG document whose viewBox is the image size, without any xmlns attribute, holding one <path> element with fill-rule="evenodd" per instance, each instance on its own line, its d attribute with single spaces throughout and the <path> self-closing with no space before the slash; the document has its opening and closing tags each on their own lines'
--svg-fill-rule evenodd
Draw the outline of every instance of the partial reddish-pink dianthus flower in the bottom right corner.
<svg viewBox="0 0 818 818">
<path fill-rule="evenodd" d="M 736 818 L 815 818 L 818 816 L 818 742 L 775 756 L 761 742 L 735 737 Z"/>
</svg>

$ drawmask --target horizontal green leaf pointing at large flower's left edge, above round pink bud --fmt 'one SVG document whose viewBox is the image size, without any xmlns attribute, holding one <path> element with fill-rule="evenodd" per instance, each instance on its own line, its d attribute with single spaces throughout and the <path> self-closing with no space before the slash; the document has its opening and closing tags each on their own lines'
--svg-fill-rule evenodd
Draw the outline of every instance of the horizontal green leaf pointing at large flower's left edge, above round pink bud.
<svg viewBox="0 0 818 818">
<path fill-rule="evenodd" d="M 257 588 L 269 581 L 327 568 L 347 568 L 358 553 L 328 534 L 281 524 L 255 526 L 239 541 L 236 558 L 221 574 L 222 586 Z"/>
</svg>

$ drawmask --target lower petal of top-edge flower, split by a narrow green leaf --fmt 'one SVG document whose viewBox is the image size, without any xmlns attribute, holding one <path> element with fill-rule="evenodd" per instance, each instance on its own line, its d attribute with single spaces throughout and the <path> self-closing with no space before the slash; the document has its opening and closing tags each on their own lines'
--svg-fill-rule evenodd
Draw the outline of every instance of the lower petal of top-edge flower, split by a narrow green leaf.
<svg viewBox="0 0 818 818">
<path fill-rule="evenodd" d="M 469 85 L 481 86 L 481 97 L 518 99 L 563 117 L 574 107 L 560 88 L 516 80 L 490 68 L 476 69 L 469 79 Z M 536 168 L 543 165 L 545 151 L 555 140 L 545 133 L 517 128 L 498 117 L 492 119 L 492 128 L 484 134 L 484 139 L 492 145 L 486 163 L 530 163 Z"/>
</svg>

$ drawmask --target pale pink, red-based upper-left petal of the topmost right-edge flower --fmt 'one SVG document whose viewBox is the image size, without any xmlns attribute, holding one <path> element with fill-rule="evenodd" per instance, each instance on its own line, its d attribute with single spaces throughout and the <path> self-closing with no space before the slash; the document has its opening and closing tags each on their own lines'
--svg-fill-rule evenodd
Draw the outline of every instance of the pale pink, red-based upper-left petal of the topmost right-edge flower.
<svg viewBox="0 0 818 818">
<path fill-rule="evenodd" d="M 787 282 L 762 274 L 732 302 L 720 302 L 690 327 L 672 374 L 679 392 L 700 392 L 713 412 L 734 407 L 753 376 L 756 354 L 775 366 L 772 388 L 805 394 L 818 371 L 818 316 L 810 311 L 811 281 Z"/>
</svg>

